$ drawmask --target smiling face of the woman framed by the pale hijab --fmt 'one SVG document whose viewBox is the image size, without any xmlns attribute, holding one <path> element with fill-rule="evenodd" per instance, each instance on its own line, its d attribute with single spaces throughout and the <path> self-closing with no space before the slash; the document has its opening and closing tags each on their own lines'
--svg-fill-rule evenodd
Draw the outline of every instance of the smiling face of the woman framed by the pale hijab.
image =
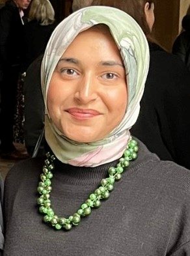
<svg viewBox="0 0 190 256">
<path fill-rule="evenodd" d="M 124 64 L 107 29 L 83 31 L 59 60 L 48 89 L 48 111 L 63 135 L 80 143 L 103 139 L 127 106 Z"/>
</svg>

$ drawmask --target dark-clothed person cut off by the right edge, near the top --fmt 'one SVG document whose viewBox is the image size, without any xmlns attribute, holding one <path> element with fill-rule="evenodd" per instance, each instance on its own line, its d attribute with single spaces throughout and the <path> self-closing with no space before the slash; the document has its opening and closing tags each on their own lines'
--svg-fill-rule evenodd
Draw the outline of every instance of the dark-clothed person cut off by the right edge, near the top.
<svg viewBox="0 0 190 256">
<path fill-rule="evenodd" d="M 174 41 L 172 53 L 178 55 L 190 70 L 190 14 L 183 17 L 182 27 L 184 31 Z"/>
</svg>

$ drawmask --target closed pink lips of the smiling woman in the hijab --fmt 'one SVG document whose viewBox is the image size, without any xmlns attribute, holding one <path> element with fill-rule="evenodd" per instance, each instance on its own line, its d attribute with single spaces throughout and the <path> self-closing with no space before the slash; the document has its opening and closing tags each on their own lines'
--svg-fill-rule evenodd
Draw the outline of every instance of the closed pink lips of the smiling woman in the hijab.
<svg viewBox="0 0 190 256">
<path fill-rule="evenodd" d="M 90 119 L 92 117 L 96 117 L 97 115 L 101 115 L 100 112 L 94 109 L 80 109 L 77 107 L 72 107 L 65 110 L 66 112 L 70 113 L 72 117 L 79 120 Z"/>
</svg>

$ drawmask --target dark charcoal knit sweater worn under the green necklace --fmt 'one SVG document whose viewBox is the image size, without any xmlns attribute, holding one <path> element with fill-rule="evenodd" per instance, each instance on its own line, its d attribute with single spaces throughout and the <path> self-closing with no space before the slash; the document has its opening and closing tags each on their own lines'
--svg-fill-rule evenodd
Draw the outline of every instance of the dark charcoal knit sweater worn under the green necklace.
<svg viewBox="0 0 190 256">
<path fill-rule="evenodd" d="M 15 165 L 5 181 L 5 256 L 190 255 L 190 171 L 163 162 L 142 143 L 110 198 L 71 231 L 42 222 L 36 206 L 43 161 Z M 79 208 L 111 164 L 74 167 L 55 162 L 51 203 L 59 216 Z"/>
</svg>

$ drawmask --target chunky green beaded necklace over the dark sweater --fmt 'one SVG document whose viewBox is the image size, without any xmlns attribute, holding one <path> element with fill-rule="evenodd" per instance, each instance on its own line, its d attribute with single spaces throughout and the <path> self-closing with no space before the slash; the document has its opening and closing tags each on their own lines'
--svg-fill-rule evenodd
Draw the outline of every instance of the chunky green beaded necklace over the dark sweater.
<svg viewBox="0 0 190 256">
<path fill-rule="evenodd" d="M 120 180 L 122 173 L 129 166 L 129 161 L 137 158 L 138 145 L 135 139 L 130 139 L 122 158 L 116 167 L 108 169 L 109 177 L 103 178 L 100 186 L 89 195 L 88 199 L 81 205 L 79 210 L 69 218 L 58 217 L 51 208 L 50 193 L 51 193 L 51 178 L 53 178 L 53 162 L 55 156 L 49 152 L 46 154 L 47 159 L 43 167 L 43 173 L 40 175 L 40 182 L 38 183 L 38 193 L 40 197 L 37 199 L 39 211 L 45 214 L 43 220 L 49 223 L 55 229 L 70 230 L 73 226 L 79 225 L 81 217 L 90 215 L 92 208 L 98 208 L 101 205 L 102 199 L 108 199 L 110 192 L 113 190 L 115 181 Z"/>
</svg>

